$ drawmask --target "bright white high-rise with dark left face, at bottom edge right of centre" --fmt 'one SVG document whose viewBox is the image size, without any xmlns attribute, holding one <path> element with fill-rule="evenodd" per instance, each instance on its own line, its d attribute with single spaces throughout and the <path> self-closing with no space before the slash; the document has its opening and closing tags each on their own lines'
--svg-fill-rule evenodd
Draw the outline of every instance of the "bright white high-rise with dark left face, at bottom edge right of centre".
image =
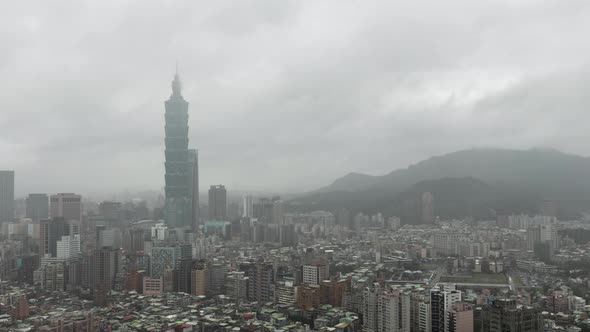
<svg viewBox="0 0 590 332">
<path fill-rule="evenodd" d="M 443 285 L 442 288 L 431 290 L 430 313 L 432 332 L 449 331 L 449 312 L 457 302 L 461 302 L 461 291 L 456 290 L 454 285 Z"/>
</svg>

